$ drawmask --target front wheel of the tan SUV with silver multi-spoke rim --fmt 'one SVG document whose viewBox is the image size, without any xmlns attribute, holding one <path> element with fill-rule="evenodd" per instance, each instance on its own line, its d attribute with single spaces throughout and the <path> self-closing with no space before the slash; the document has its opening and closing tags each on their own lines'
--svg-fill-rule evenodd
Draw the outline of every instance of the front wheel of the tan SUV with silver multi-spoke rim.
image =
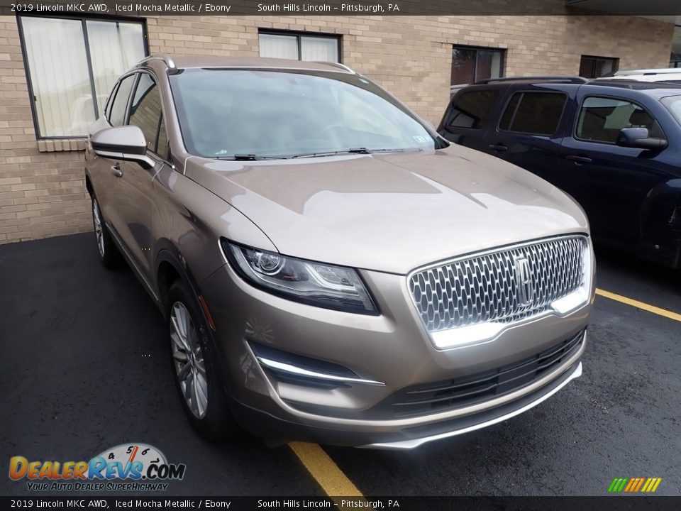
<svg viewBox="0 0 681 511">
<path fill-rule="evenodd" d="M 170 286 L 166 317 L 175 386 L 189 422 L 206 440 L 234 436 L 238 426 L 229 411 L 209 327 L 182 280 Z"/>
</svg>

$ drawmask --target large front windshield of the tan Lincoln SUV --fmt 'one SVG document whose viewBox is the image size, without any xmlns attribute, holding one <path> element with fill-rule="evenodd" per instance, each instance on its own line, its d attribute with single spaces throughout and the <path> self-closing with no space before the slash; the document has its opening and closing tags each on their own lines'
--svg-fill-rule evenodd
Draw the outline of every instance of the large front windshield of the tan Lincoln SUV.
<svg viewBox="0 0 681 511">
<path fill-rule="evenodd" d="M 301 70 L 184 70 L 171 77 L 189 153 L 247 158 L 432 150 L 440 143 L 358 75 Z"/>
</svg>

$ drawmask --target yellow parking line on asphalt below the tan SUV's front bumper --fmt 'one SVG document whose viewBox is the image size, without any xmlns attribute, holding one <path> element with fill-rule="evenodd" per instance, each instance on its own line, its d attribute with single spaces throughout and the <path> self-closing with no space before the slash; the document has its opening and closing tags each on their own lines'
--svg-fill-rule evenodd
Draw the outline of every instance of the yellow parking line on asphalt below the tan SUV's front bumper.
<svg viewBox="0 0 681 511">
<path fill-rule="evenodd" d="M 317 444 L 291 442 L 289 447 L 326 495 L 333 497 L 364 497 L 338 465 Z"/>
</svg>

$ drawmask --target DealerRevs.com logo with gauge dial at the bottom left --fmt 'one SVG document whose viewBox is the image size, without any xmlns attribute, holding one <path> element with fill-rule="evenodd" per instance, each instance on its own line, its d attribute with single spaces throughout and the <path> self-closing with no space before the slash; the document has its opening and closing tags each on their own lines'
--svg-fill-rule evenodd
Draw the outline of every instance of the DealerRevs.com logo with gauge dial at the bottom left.
<svg viewBox="0 0 681 511">
<path fill-rule="evenodd" d="M 164 454 L 147 444 L 121 444 L 90 461 L 9 460 L 9 477 L 27 479 L 33 491 L 162 491 L 170 480 L 182 480 L 187 466 L 168 463 Z"/>
</svg>

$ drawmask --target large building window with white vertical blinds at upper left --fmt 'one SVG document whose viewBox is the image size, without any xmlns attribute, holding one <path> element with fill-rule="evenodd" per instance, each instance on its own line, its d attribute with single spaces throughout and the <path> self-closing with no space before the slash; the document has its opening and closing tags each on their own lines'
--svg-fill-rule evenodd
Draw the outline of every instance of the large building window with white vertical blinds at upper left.
<svg viewBox="0 0 681 511">
<path fill-rule="evenodd" d="M 140 21 L 20 18 L 39 138 L 86 136 L 116 78 L 145 57 Z"/>
</svg>

